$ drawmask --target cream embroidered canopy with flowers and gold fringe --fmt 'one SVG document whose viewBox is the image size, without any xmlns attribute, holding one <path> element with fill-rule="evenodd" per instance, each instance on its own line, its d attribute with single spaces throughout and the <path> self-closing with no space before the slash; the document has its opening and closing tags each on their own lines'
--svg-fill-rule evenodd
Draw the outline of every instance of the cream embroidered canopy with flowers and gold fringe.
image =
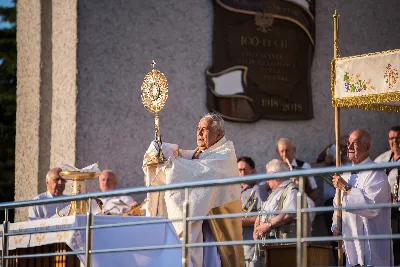
<svg viewBox="0 0 400 267">
<path fill-rule="evenodd" d="M 332 62 L 332 105 L 400 112 L 400 49 Z"/>
</svg>

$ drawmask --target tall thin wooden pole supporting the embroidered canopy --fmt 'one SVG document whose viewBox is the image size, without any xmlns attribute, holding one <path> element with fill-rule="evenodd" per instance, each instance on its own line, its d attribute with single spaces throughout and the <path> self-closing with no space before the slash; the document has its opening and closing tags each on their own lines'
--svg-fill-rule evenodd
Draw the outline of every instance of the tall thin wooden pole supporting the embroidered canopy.
<svg viewBox="0 0 400 267">
<path fill-rule="evenodd" d="M 339 57 L 339 14 L 337 10 L 333 14 L 333 59 Z M 335 71 L 335 70 L 333 70 Z M 334 97 L 334 96 L 332 96 Z M 335 107 L 335 145 L 336 145 L 336 166 L 340 166 L 340 108 Z M 336 189 L 335 199 L 336 206 L 342 206 L 342 192 Z M 342 211 L 336 211 L 337 228 L 342 232 Z M 343 266 L 343 248 L 342 241 L 338 241 L 338 266 Z"/>
</svg>

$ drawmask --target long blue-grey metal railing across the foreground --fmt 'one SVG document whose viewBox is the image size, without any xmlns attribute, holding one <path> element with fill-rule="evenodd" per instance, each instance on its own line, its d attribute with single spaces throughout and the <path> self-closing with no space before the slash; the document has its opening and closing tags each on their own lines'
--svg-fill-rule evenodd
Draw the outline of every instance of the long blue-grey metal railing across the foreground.
<svg viewBox="0 0 400 267">
<path fill-rule="evenodd" d="M 296 210 L 290 211 L 274 211 L 274 212 L 249 212 L 249 213 L 235 213 L 235 214 L 226 214 L 226 215 L 212 215 L 212 216 L 196 216 L 196 217 L 188 217 L 188 209 L 189 206 L 189 189 L 197 188 L 197 187 L 210 187 L 210 186 L 222 186 L 229 184 L 239 184 L 239 183 L 249 183 L 249 182 L 259 182 L 263 180 L 272 180 L 277 178 L 290 178 L 290 177 L 300 177 L 300 190 L 298 194 L 298 199 L 303 198 L 304 196 L 304 188 L 302 188 L 302 179 L 303 176 L 317 176 L 323 174 L 331 174 L 331 173 L 345 173 L 345 172 L 359 172 L 364 170 L 379 170 L 379 169 L 387 169 L 387 168 L 400 168 L 400 162 L 396 163 L 380 163 L 380 164 L 361 164 L 355 166 L 340 166 L 340 167 L 326 167 L 326 168 L 315 168 L 315 169 L 301 169 L 294 170 L 291 172 L 282 172 L 282 173 L 273 173 L 273 174 L 256 174 L 249 176 L 240 176 L 240 177 L 232 177 L 232 178 L 222 178 L 222 179 L 209 179 L 202 181 L 194 181 L 194 182 L 184 182 L 177 184 L 169 184 L 169 185 L 157 185 L 151 187 L 135 187 L 135 188 L 123 188 L 117 189 L 113 191 L 107 192 L 93 192 L 93 193 L 85 193 L 73 196 L 60 196 L 57 198 L 48 198 L 48 199 L 37 199 L 37 200 L 24 200 L 17 202 L 6 202 L 0 203 L 0 210 L 5 211 L 5 222 L 3 223 L 3 233 L 2 233 L 2 266 L 6 266 L 6 262 L 8 259 L 15 258 L 29 258 L 29 257 L 47 257 L 47 256 L 61 256 L 61 255 L 78 255 L 85 254 L 86 266 L 90 266 L 91 255 L 95 253 L 107 253 L 107 252 L 123 252 L 123 251 L 136 251 L 136 250 L 156 250 L 156 249 L 170 249 L 170 248 L 182 248 L 182 265 L 188 266 L 189 264 L 189 248 L 193 247 L 204 247 L 204 246 L 215 246 L 215 245 L 251 245 L 251 244 L 278 244 L 282 243 L 296 243 L 297 244 L 297 254 L 298 254 L 298 262 L 297 266 L 304 265 L 305 251 L 306 247 L 302 247 L 305 242 L 327 242 L 327 241 L 343 241 L 343 240 L 355 240 L 355 239 L 395 239 L 400 238 L 400 234 L 396 235 L 373 235 L 373 236 L 358 236 L 358 237 L 306 237 L 302 234 L 302 231 L 298 231 L 296 238 L 288 238 L 284 240 L 243 240 L 243 241 L 226 241 L 226 242 L 210 242 L 210 243 L 188 243 L 188 223 L 191 221 L 200 221 L 200 220 L 210 220 L 210 219 L 219 219 L 219 218 L 235 218 L 235 217 L 243 217 L 246 216 L 258 216 L 258 215 L 267 215 L 267 214 L 280 214 L 280 213 L 296 213 L 297 217 L 301 217 L 302 213 L 307 212 L 326 212 L 326 211 L 334 211 L 334 210 L 351 210 L 351 209 L 370 209 L 370 208 L 392 208 L 392 207 L 400 207 L 400 203 L 392 204 L 392 203 L 383 203 L 383 204 L 371 204 L 368 206 L 346 206 L 346 207 L 316 207 L 316 208 L 305 208 L 302 206 L 298 206 Z M 135 193 L 151 193 L 158 191 L 166 191 L 166 190 L 177 190 L 184 189 L 185 190 L 185 203 L 182 207 L 184 210 L 183 218 L 173 218 L 173 219 L 163 219 L 163 220 L 154 220 L 149 217 L 148 221 L 140 221 L 140 222 L 129 222 L 129 223 L 117 223 L 117 224 L 106 224 L 106 225 L 92 225 L 93 215 L 90 214 L 91 211 L 91 199 L 103 198 L 103 197 L 113 197 L 113 196 L 121 196 L 121 195 L 129 195 Z M 19 256 L 8 256 L 8 246 L 7 241 L 10 236 L 15 235 L 26 235 L 31 232 L 24 233 L 12 233 L 8 231 L 8 211 L 9 209 L 28 207 L 28 206 L 36 206 L 36 205 L 44 205 L 51 203 L 61 203 L 61 202 L 70 202 L 77 200 L 89 200 L 88 207 L 88 216 L 86 221 L 86 226 L 82 227 L 73 227 L 68 229 L 57 229 L 57 230 L 43 230 L 43 231 L 34 231 L 32 233 L 41 233 L 41 232 L 61 232 L 61 231 L 71 231 L 71 230 L 86 230 L 86 247 L 85 251 L 82 252 L 63 252 L 63 253 L 42 253 L 42 254 L 29 254 L 29 255 L 19 255 Z M 300 216 L 299 216 L 300 215 Z M 123 227 L 123 226 L 132 226 L 132 225 L 141 225 L 141 224 L 156 224 L 156 223 L 165 223 L 165 222 L 176 222 L 182 221 L 185 225 L 184 232 L 182 236 L 182 244 L 179 245 L 162 245 L 162 246 L 142 246 L 142 247 L 132 247 L 132 248 L 115 248 L 115 249 L 92 249 L 92 230 L 98 228 L 108 228 L 108 227 Z M 302 219 L 298 219 L 298 229 L 302 229 L 305 227 L 305 223 Z M 301 245 L 301 246 L 299 246 Z M 300 253 L 300 254 L 299 254 Z"/>
</svg>

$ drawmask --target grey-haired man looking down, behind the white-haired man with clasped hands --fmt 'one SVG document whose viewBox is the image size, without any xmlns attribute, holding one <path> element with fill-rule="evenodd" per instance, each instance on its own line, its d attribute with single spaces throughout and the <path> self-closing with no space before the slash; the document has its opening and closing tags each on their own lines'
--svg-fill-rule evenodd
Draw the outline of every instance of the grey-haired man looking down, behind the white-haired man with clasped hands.
<svg viewBox="0 0 400 267">
<path fill-rule="evenodd" d="M 289 162 L 293 169 L 309 169 L 310 164 L 307 162 L 298 160 L 295 158 L 296 155 L 296 145 L 289 138 L 282 137 L 276 142 L 276 152 L 283 162 Z M 314 176 L 308 176 L 308 182 L 310 183 L 312 193 L 309 194 L 309 198 L 313 201 L 318 199 L 317 183 Z"/>
</svg>

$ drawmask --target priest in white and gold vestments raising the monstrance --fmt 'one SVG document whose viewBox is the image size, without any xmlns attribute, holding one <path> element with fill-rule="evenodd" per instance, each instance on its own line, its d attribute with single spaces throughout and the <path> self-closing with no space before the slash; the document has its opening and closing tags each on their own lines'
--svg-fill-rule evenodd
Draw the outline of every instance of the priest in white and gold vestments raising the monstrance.
<svg viewBox="0 0 400 267">
<path fill-rule="evenodd" d="M 207 114 L 197 127 L 197 148 L 178 150 L 176 145 L 163 144 L 168 160 L 157 167 L 144 167 L 147 185 L 202 181 L 238 176 L 233 143 L 225 138 L 220 115 Z M 148 163 L 157 155 L 152 143 L 144 156 Z M 189 190 L 189 215 L 205 216 L 241 212 L 240 185 L 193 188 Z M 169 190 L 148 195 L 147 214 L 169 219 L 183 217 L 184 190 Z M 173 222 L 182 235 L 184 225 Z M 189 243 L 242 240 L 240 218 L 193 221 L 189 223 Z M 193 267 L 244 266 L 242 246 L 218 246 L 189 249 Z"/>
</svg>

